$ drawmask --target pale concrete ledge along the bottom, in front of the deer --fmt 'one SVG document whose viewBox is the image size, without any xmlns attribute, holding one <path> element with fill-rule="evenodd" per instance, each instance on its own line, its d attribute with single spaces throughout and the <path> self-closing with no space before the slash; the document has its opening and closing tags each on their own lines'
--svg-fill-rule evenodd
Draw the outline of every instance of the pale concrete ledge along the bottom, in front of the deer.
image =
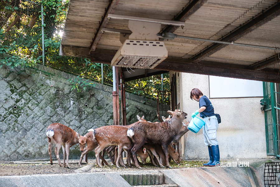
<svg viewBox="0 0 280 187">
<path fill-rule="evenodd" d="M 206 161 L 206 160 L 205 160 Z M 180 187 L 263 187 L 263 173 L 266 162 L 278 162 L 273 159 L 240 159 L 221 160 L 220 167 L 199 167 L 184 169 L 134 170 L 97 172 L 90 171 L 91 165 L 77 170 L 76 174 L 62 175 L 24 175 L 2 176 L 0 186 L 5 187 L 110 187 L 131 186 L 120 174 L 162 173 L 166 184 L 177 184 Z"/>
</svg>

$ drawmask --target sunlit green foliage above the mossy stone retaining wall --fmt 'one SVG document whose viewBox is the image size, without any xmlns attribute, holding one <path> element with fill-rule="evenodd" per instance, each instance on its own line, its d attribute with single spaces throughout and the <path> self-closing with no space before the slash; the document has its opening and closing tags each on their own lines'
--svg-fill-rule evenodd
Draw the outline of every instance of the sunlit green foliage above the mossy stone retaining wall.
<svg viewBox="0 0 280 187">
<path fill-rule="evenodd" d="M 18 0 L 0 1 L 0 68 L 4 64 L 15 68 L 33 67 L 37 63 L 42 63 L 41 3 L 43 2 L 45 66 L 101 82 L 100 63 L 91 62 L 88 58 L 59 56 L 69 0 L 34 0 L 34 2 L 37 4 Z M 8 29 L 17 16 L 20 16 L 19 21 Z M 35 18 L 33 25 L 32 18 Z M 29 26 L 30 24 L 32 26 Z M 104 83 L 112 85 L 112 67 L 103 64 L 103 73 Z M 69 80 L 72 84 L 71 90 L 90 91 L 95 84 L 83 81 L 80 76 Z M 156 100 L 157 92 L 161 90 L 161 77 L 152 76 L 129 81 L 125 86 L 136 95 Z M 169 74 L 164 74 L 164 88 L 169 90 Z"/>
</svg>

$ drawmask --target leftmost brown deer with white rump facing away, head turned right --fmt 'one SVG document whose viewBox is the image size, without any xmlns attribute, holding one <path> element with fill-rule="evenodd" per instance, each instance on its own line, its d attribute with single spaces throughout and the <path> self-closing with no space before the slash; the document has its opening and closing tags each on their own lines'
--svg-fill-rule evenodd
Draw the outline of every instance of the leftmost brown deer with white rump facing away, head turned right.
<svg viewBox="0 0 280 187">
<path fill-rule="evenodd" d="M 51 157 L 51 149 L 53 143 L 56 144 L 55 146 L 55 155 L 58 160 L 60 167 L 69 168 L 69 150 L 70 147 L 79 143 L 79 141 L 85 141 L 85 137 L 79 135 L 78 132 L 74 131 L 73 129 L 69 128 L 68 126 L 62 125 L 60 123 L 53 123 L 50 124 L 46 130 L 46 135 L 49 140 L 49 155 L 50 155 L 50 164 L 53 165 L 53 160 Z M 63 165 L 61 164 L 59 158 L 59 150 L 62 146 L 63 150 Z M 66 154 L 66 164 L 65 164 L 65 154 Z"/>
</svg>

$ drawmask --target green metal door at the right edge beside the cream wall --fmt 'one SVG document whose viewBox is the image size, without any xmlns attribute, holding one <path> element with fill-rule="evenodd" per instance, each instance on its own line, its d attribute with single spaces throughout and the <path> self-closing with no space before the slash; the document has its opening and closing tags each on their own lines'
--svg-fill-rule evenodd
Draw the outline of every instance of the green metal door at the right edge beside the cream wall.
<svg viewBox="0 0 280 187">
<path fill-rule="evenodd" d="M 266 151 L 268 156 L 280 158 L 280 84 L 263 82 Z"/>
</svg>

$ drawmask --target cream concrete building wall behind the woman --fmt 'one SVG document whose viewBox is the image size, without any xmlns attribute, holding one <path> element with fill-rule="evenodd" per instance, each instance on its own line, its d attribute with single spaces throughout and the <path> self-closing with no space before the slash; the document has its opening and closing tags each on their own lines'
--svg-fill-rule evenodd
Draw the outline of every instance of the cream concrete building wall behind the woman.
<svg viewBox="0 0 280 187">
<path fill-rule="evenodd" d="M 180 73 L 181 110 L 188 119 L 199 109 L 199 103 L 190 99 L 190 92 L 198 88 L 209 98 L 207 75 Z M 221 85 L 222 86 L 222 85 Z M 266 155 L 264 112 L 261 97 L 210 99 L 221 123 L 217 131 L 221 159 L 271 158 Z M 208 148 L 203 133 L 189 131 L 185 135 L 185 158 L 208 159 Z"/>
</svg>

